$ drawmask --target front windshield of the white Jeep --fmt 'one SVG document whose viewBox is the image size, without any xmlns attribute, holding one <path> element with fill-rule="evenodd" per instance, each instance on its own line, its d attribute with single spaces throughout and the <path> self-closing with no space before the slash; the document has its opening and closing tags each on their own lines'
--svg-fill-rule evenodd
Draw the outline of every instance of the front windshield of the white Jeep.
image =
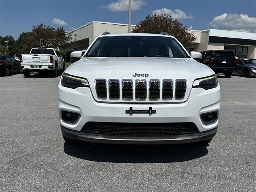
<svg viewBox="0 0 256 192">
<path fill-rule="evenodd" d="M 160 36 L 100 37 L 84 57 L 190 58 L 174 38 Z"/>
</svg>

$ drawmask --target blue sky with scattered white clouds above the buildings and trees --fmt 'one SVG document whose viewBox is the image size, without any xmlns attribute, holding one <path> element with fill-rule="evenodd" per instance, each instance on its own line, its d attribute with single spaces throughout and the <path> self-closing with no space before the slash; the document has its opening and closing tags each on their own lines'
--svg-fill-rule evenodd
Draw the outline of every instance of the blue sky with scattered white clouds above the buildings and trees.
<svg viewBox="0 0 256 192">
<path fill-rule="evenodd" d="M 90 21 L 128 23 L 128 0 L 0 0 L 0 35 L 15 39 L 40 23 L 70 31 Z M 256 32 L 255 0 L 132 0 L 131 23 L 169 13 L 194 30 Z"/>
</svg>

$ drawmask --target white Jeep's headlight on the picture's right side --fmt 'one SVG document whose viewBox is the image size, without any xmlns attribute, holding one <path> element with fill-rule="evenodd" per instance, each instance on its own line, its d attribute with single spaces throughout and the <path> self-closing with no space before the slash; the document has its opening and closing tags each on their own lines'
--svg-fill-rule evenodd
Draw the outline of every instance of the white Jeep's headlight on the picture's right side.
<svg viewBox="0 0 256 192">
<path fill-rule="evenodd" d="M 204 77 L 194 80 L 192 88 L 200 87 L 203 89 L 212 89 L 218 86 L 217 76 Z"/>
</svg>

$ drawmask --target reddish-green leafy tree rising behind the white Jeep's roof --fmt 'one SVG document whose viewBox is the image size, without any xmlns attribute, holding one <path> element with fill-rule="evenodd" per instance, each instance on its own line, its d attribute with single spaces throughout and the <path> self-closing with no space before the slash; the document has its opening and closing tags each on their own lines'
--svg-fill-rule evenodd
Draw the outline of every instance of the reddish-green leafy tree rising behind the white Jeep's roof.
<svg viewBox="0 0 256 192">
<path fill-rule="evenodd" d="M 186 26 L 183 26 L 179 20 L 173 20 L 168 14 L 147 15 L 144 20 L 140 20 L 136 27 L 132 29 L 133 33 L 154 33 L 167 32 L 169 35 L 177 38 L 185 48 L 192 45 L 196 40 L 194 34 L 188 32 Z"/>
</svg>

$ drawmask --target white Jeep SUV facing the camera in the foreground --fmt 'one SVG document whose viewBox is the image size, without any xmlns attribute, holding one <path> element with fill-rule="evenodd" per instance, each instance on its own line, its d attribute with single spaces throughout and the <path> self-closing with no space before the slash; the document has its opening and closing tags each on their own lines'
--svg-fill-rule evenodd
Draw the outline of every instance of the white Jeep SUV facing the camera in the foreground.
<svg viewBox="0 0 256 192">
<path fill-rule="evenodd" d="M 58 85 L 66 142 L 208 144 L 217 132 L 220 86 L 173 36 L 104 32 Z"/>
</svg>

